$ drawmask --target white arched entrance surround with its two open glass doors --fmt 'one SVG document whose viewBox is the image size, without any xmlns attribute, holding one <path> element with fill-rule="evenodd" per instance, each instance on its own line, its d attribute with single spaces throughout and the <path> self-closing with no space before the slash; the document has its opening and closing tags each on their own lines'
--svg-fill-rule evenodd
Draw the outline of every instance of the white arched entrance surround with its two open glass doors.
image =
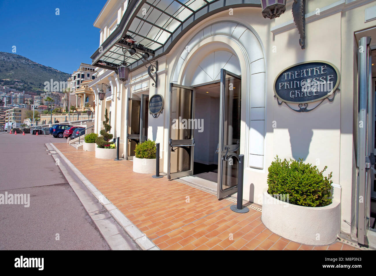
<svg viewBox="0 0 376 276">
<path fill-rule="evenodd" d="M 253 82 L 261 86 L 252 87 Z M 263 167 L 265 61 L 252 29 L 226 21 L 197 32 L 176 60 L 169 97 L 170 178 L 201 184 L 205 179 L 206 188 L 223 198 L 237 192 L 234 155 L 248 157 L 246 166 Z M 261 108 L 261 124 L 252 125 L 252 108 Z M 249 148 L 251 134 L 259 145 L 257 154 Z M 252 155 L 262 158 L 252 160 Z"/>
</svg>

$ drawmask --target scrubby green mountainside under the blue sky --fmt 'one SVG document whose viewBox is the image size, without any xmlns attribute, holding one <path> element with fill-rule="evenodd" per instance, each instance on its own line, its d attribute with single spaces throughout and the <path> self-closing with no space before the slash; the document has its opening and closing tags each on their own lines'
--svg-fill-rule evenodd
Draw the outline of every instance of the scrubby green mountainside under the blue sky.
<svg viewBox="0 0 376 276">
<path fill-rule="evenodd" d="M 0 52 L 0 86 L 18 91 L 43 92 L 44 82 L 67 81 L 70 74 L 41 65 L 18 54 Z"/>
</svg>

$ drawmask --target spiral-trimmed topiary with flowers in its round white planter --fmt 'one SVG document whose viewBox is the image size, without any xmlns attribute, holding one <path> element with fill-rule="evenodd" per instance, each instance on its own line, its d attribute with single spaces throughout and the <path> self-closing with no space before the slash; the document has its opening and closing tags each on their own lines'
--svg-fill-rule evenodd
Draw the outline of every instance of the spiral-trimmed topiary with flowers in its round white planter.
<svg viewBox="0 0 376 276">
<path fill-rule="evenodd" d="M 108 113 L 107 109 L 105 110 L 105 121 L 103 121 L 104 130 L 101 130 L 99 133 L 102 136 L 99 136 L 95 139 L 97 147 L 95 148 L 95 157 L 102 158 L 102 159 L 114 159 L 116 157 L 116 146 L 114 142 L 110 142 L 109 140 L 114 137 L 108 131 L 111 130 L 111 125 L 108 124 Z M 113 146 L 112 146 L 113 145 Z"/>
</svg>

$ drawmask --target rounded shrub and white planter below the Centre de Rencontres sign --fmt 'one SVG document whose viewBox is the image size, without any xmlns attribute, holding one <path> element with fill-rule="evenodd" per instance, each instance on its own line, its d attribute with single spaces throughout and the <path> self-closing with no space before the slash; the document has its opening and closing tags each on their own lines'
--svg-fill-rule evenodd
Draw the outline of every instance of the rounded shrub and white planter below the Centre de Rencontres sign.
<svg viewBox="0 0 376 276">
<path fill-rule="evenodd" d="M 152 140 L 147 140 L 137 144 L 135 157 L 133 157 L 133 172 L 155 173 L 156 165 L 156 144 Z"/>
</svg>

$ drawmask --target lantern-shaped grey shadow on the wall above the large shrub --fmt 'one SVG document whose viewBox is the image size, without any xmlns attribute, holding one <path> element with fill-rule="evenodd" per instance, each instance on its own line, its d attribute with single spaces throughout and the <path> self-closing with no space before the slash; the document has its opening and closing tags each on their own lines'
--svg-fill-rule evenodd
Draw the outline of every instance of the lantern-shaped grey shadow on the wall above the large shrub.
<svg viewBox="0 0 376 276">
<path fill-rule="evenodd" d="M 312 141 L 312 129 L 294 127 L 289 128 L 288 133 L 290 134 L 291 154 L 294 159 L 299 160 L 299 158 L 302 158 L 305 161 Z"/>
</svg>

